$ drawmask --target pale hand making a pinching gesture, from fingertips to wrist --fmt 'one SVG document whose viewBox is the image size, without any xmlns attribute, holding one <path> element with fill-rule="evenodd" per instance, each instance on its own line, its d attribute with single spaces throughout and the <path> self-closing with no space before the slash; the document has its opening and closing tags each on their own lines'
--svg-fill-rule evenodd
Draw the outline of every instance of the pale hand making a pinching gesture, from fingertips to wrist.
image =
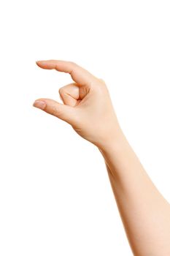
<svg viewBox="0 0 170 256">
<path fill-rule="evenodd" d="M 40 98 L 34 107 L 56 116 L 68 124 L 85 140 L 98 147 L 120 134 L 120 126 L 104 80 L 71 61 L 36 61 L 43 69 L 69 73 L 75 83 L 59 89 L 63 104 L 53 99 Z"/>
</svg>

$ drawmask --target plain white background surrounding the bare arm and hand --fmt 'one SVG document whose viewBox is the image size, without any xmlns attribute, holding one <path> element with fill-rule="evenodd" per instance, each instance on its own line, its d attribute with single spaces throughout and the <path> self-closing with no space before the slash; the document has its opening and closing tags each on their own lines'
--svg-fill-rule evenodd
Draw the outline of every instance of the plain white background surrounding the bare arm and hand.
<svg viewBox="0 0 170 256">
<path fill-rule="evenodd" d="M 98 148 L 32 107 L 72 78 L 35 61 L 74 61 L 107 83 L 120 125 L 164 197 L 169 188 L 169 1 L 1 1 L 0 255 L 125 255 Z"/>
</svg>

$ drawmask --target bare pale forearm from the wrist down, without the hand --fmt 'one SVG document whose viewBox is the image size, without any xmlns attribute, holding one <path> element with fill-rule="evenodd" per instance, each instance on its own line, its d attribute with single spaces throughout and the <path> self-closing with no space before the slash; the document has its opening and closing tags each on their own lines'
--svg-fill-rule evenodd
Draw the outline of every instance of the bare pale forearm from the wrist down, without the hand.
<svg viewBox="0 0 170 256">
<path fill-rule="evenodd" d="M 134 255 L 170 255 L 169 203 L 150 180 L 123 133 L 98 149 L 106 162 Z"/>
</svg>

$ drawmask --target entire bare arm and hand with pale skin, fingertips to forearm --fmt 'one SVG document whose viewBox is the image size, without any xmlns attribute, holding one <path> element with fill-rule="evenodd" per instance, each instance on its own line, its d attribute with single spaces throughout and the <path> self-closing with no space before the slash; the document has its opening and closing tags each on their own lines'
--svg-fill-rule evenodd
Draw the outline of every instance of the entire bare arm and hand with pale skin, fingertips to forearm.
<svg viewBox="0 0 170 256">
<path fill-rule="evenodd" d="M 39 98 L 34 107 L 66 121 L 82 138 L 98 147 L 134 255 L 169 256 L 170 205 L 125 138 L 104 80 L 72 61 L 47 60 L 36 64 L 72 76 L 74 82 L 59 89 L 63 104 Z"/>
</svg>

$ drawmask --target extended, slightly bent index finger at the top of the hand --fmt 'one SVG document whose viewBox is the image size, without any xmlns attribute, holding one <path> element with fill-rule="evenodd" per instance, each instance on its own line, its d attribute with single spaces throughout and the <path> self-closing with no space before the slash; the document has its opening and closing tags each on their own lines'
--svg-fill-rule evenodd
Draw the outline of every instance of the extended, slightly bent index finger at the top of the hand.
<svg viewBox="0 0 170 256">
<path fill-rule="evenodd" d="M 88 72 L 88 70 L 80 67 L 72 61 L 52 59 L 47 61 L 36 61 L 36 64 L 39 67 L 42 67 L 42 69 L 56 69 L 61 72 L 69 73 L 72 76 L 72 79 L 80 86 L 92 86 L 93 82 L 97 79 L 94 75 Z"/>
</svg>

